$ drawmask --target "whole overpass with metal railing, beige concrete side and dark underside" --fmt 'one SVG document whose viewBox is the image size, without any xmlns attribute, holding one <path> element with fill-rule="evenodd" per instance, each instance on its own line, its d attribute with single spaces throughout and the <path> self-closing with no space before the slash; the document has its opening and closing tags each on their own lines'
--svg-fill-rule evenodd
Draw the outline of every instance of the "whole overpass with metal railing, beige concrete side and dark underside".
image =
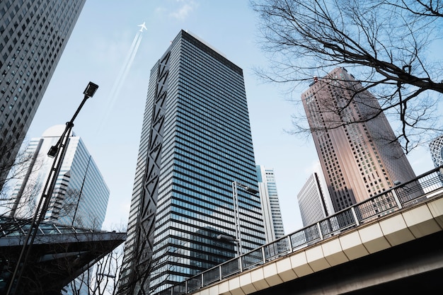
<svg viewBox="0 0 443 295">
<path fill-rule="evenodd" d="M 440 167 L 159 295 L 427 294 L 442 288 L 442 245 Z"/>
</svg>

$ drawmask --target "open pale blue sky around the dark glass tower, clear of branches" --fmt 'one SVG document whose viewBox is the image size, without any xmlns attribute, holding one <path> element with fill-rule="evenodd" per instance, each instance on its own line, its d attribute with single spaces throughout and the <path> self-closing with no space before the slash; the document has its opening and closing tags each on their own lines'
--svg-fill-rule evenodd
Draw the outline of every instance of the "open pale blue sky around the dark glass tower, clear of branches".
<svg viewBox="0 0 443 295">
<path fill-rule="evenodd" d="M 88 81 L 97 83 L 98 91 L 76 118 L 74 132 L 84 140 L 110 188 L 105 227 L 127 224 L 149 72 L 178 32 L 189 30 L 243 69 L 256 163 L 275 169 L 286 233 L 300 229 L 297 193 L 313 172 L 317 154 L 310 137 L 284 132 L 292 129 L 295 112 L 283 95 L 286 89 L 264 84 L 253 74 L 254 66 L 267 65 L 257 45 L 257 21 L 247 0 L 87 0 L 28 139 L 69 121 Z M 113 84 L 137 25 L 143 22 L 147 30 L 115 96 Z M 293 97 L 299 98 L 303 90 Z M 427 147 L 409 158 L 418 174 L 433 168 Z"/>
</svg>

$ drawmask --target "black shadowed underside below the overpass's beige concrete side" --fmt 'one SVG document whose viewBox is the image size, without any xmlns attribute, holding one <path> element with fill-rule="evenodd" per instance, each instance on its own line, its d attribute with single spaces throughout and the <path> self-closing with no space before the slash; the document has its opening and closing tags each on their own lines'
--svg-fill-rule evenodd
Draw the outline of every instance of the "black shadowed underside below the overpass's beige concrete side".
<svg viewBox="0 0 443 295">
<path fill-rule="evenodd" d="M 443 232 L 253 294 L 443 294 Z"/>
</svg>

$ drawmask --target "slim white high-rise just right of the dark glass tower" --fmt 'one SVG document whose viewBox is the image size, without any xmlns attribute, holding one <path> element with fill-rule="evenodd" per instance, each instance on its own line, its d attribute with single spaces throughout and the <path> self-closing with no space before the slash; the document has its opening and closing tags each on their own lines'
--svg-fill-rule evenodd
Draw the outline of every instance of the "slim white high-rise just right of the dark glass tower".
<svg viewBox="0 0 443 295">
<path fill-rule="evenodd" d="M 257 165 L 258 191 L 265 222 L 266 243 L 275 241 L 284 236 L 282 211 L 277 194 L 277 183 L 272 168 Z"/>
</svg>

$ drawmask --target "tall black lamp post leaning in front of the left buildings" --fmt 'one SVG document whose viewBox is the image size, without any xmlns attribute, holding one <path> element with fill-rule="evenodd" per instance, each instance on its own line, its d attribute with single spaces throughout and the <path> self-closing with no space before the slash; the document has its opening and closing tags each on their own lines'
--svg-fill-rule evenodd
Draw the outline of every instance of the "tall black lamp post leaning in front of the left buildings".
<svg viewBox="0 0 443 295">
<path fill-rule="evenodd" d="M 77 115 L 79 115 L 79 112 L 83 105 L 86 103 L 86 100 L 93 97 L 94 93 L 96 93 L 97 88 L 97 84 L 92 82 L 88 83 L 88 86 L 86 86 L 86 89 L 83 92 L 84 98 L 81 101 L 79 108 L 77 108 L 71 120 L 66 123 L 64 132 L 57 141 L 57 144 L 51 146 L 50 151 L 48 151 L 47 153 L 47 156 L 50 156 L 50 158 L 54 158 L 54 161 L 52 162 L 50 174 L 47 177 L 45 187 L 43 188 L 42 195 L 38 202 L 38 206 L 35 208 L 33 220 L 31 221 L 30 228 L 25 237 L 23 247 L 21 248 L 21 253 L 18 256 L 18 260 L 16 262 L 17 264 L 11 276 L 11 281 L 8 286 L 8 291 L 6 291 L 6 295 L 16 294 L 17 288 L 20 286 L 20 279 L 22 277 L 23 271 L 25 270 L 26 263 L 28 262 L 30 250 L 34 243 L 35 236 L 37 235 L 38 226 L 40 226 L 42 220 L 45 219 L 45 215 L 50 204 L 52 192 L 57 181 L 57 175 L 59 174 L 59 170 L 62 167 L 64 154 L 66 153 L 66 146 L 69 142 L 69 134 L 71 134 L 72 127 L 74 127 L 74 120 Z"/>
</svg>

